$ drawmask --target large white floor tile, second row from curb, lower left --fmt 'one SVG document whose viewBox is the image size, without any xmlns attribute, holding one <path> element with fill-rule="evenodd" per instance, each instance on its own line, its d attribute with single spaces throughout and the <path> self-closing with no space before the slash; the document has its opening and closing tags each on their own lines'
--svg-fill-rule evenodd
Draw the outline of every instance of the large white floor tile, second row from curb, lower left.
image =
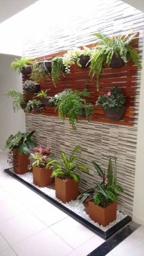
<svg viewBox="0 0 144 256">
<path fill-rule="evenodd" d="M 1 233 L 10 244 L 18 243 L 45 229 L 46 225 L 26 212 L 1 222 Z"/>
</svg>

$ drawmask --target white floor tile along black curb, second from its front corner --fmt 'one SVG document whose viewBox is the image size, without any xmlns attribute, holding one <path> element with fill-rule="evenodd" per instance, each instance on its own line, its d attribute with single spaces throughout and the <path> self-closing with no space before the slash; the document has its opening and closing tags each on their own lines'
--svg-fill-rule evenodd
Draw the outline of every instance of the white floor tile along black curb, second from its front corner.
<svg viewBox="0 0 144 256">
<path fill-rule="evenodd" d="M 68 218 L 67 214 L 48 202 L 40 207 L 33 208 L 31 211 L 38 217 L 38 219 L 41 219 L 41 221 L 48 225 L 48 227 L 62 219 Z"/>
</svg>

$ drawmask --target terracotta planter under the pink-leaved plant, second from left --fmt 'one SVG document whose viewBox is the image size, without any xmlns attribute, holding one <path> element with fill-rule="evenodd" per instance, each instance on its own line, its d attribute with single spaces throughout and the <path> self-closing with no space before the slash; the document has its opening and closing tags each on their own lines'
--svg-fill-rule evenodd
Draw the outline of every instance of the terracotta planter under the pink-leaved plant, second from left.
<svg viewBox="0 0 144 256">
<path fill-rule="evenodd" d="M 46 169 L 46 168 L 39 168 L 37 166 L 34 166 L 32 168 L 32 173 L 33 173 L 33 182 L 38 187 L 46 187 L 52 183 L 51 167 Z"/>
</svg>

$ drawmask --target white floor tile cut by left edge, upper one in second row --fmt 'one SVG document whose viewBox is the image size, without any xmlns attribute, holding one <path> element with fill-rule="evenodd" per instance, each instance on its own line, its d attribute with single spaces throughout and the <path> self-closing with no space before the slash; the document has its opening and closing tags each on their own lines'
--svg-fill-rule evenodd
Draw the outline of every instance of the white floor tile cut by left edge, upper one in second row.
<svg viewBox="0 0 144 256">
<path fill-rule="evenodd" d="M 26 211 L 26 208 L 13 198 L 0 202 L 0 209 L 0 222 Z"/>
</svg>

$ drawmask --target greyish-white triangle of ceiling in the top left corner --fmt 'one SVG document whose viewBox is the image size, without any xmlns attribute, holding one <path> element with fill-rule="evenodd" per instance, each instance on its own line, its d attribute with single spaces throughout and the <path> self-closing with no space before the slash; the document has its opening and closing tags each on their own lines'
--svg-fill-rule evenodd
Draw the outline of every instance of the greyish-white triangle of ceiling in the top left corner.
<svg viewBox="0 0 144 256">
<path fill-rule="evenodd" d="M 34 2 L 37 0 L 0 0 L 0 23 L 34 4 Z"/>
</svg>

